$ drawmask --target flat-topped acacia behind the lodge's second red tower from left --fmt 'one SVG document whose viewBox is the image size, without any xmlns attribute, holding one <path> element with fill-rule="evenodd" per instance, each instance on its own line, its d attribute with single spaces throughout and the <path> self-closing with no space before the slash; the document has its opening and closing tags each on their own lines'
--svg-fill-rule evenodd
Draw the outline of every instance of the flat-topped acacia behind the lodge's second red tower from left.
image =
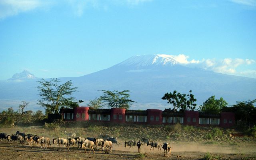
<svg viewBox="0 0 256 160">
<path fill-rule="evenodd" d="M 103 95 L 100 96 L 100 99 L 104 103 L 103 105 L 108 106 L 108 108 L 125 108 L 129 109 L 130 105 L 135 102 L 130 98 L 129 90 L 123 91 L 109 91 L 109 90 L 101 90 Z M 135 102 L 136 103 L 136 102 Z"/>
</svg>

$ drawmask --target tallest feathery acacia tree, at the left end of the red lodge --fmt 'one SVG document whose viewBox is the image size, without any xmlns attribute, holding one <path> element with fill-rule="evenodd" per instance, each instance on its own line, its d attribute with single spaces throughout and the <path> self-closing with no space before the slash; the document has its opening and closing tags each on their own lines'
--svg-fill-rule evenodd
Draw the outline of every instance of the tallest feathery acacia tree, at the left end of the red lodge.
<svg viewBox="0 0 256 160">
<path fill-rule="evenodd" d="M 78 92 L 77 87 L 72 88 L 72 82 L 68 81 L 60 84 L 60 80 L 52 78 L 50 81 L 42 79 L 37 86 L 39 91 L 40 100 L 38 104 L 45 108 L 46 113 L 58 114 L 61 107 L 66 106 L 67 102 L 75 100 L 71 95 Z"/>
</svg>

